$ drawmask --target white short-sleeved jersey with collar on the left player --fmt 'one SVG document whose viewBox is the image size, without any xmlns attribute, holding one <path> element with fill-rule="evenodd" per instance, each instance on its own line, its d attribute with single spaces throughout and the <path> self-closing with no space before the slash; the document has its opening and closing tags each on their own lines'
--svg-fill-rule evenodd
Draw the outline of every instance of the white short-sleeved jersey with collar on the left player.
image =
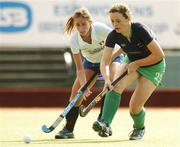
<svg viewBox="0 0 180 147">
<path fill-rule="evenodd" d="M 95 22 L 92 24 L 91 40 L 89 44 L 81 38 L 76 31 L 71 37 L 71 51 L 78 54 L 80 51 L 82 56 L 92 63 L 100 63 L 104 49 L 104 41 L 107 35 L 112 31 L 111 28 L 103 23 Z"/>
</svg>

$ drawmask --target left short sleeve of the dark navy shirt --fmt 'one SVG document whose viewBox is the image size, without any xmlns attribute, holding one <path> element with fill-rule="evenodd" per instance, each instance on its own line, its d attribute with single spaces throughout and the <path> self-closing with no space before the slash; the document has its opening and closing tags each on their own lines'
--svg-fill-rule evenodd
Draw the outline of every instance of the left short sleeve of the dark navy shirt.
<svg viewBox="0 0 180 147">
<path fill-rule="evenodd" d="M 116 36 L 114 31 L 110 32 L 106 38 L 105 46 L 114 48 L 116 44 Z"/>
</svg>

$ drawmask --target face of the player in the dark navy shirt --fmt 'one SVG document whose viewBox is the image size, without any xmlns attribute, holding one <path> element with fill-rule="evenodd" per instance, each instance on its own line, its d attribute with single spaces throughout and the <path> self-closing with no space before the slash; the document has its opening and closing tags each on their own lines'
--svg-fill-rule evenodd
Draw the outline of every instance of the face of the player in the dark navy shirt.
<svg viewBox="0 0 180 147">
<path fill-rule="evenodd" d="M 126 32 L 127 27 L 129 26 L 129 20 L 123 17 L 122 14 L 115 12 L 110 13 L 111 23 L 118 33 Z"/>
</svg>

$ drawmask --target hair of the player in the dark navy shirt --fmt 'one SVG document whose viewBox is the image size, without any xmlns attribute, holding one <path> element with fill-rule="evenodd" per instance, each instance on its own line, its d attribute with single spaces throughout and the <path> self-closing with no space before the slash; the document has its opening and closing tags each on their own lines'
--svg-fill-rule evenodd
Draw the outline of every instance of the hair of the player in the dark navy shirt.
<svg viewBox="0 0 180 147">
<path fill-rule="evenodd" d="M 123 3 L 116 3 L 116 4 L 114 4 L 110 8 L 109 13 L 115 13 L 115 12 L 118 12 L 118 13 L 122 14 L 122 16 L 125 19 L 129 19 L 129 20 L 132 19 L 132 13 L 131 13 L 128 5 L 126 5 L 126 4 L 123 4 Z"/>
</svg>

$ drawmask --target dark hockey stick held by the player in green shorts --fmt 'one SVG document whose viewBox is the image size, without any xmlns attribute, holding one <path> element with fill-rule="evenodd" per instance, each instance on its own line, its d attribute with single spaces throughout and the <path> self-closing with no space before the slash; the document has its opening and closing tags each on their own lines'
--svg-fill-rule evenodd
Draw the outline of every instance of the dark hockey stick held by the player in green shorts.
<svg viewBox="0 0 180 147">
<path fill-rule="evenodd" d="M 116 80 L 112 82 L 112 85 L 116 85 L 125 75 L 127 75 L 127 71 L 124 72 L 121 76 L 119 76 Z M 98 94 L 94 100 L 87 106 L 84 107 L 83 105 L 80 106 L 79 113 L 81 117 L 85 117 L 88 112 L 95 107 L 95 105 L 103 98 L 103 96 L 108 92 L 109 90 L 106 88 L 104 89 L 100 94 Z"/>
</svg>

